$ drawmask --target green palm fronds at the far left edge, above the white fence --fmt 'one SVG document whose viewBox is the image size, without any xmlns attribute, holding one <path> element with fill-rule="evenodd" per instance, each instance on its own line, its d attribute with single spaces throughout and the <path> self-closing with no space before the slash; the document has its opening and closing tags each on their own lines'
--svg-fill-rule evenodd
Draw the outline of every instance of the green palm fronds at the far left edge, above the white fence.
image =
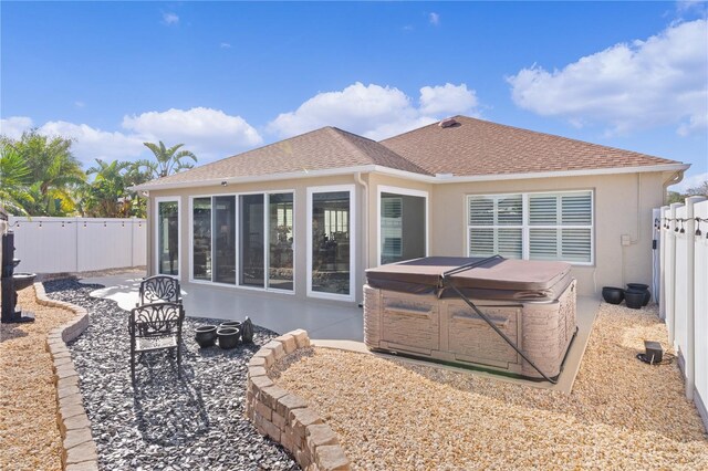
<svg viewBox="0 0 708 471">
<path fill-rule="evenodd" d="M 30 169 L 18 150 L 7 142 L 0 144 L 0 206 L 8 212 L 28 216 L 25 206 L 33 202 L 28 189 Z"/>
</svg>

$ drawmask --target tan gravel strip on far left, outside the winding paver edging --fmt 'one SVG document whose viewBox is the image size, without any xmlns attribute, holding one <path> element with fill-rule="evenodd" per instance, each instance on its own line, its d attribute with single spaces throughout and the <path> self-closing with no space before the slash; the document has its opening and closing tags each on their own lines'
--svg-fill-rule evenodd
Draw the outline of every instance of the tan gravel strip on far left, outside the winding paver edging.
<svg viewBox="0 0 708 471">
<path fill-rule="evenodd" d="M 0 470 L 61 469 L 56 388 L 46 334 L 73 317 L 70 311 L 40 306 L 34 287 L 19 293 L 18 305 L 35 314 L 30 324 L 0 324 Z"/>
</svg>

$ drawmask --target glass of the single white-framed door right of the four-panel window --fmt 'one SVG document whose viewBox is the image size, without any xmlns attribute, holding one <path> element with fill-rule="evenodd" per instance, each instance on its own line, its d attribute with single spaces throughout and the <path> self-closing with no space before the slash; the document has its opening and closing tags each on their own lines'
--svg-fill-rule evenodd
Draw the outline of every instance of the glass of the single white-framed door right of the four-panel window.
<svg viewBox="0 0 708 471">
<path fill-rule="evenodd" d="M 350 192 L 312 195 L 312 291 L 350 294 Z"/>
</svg>

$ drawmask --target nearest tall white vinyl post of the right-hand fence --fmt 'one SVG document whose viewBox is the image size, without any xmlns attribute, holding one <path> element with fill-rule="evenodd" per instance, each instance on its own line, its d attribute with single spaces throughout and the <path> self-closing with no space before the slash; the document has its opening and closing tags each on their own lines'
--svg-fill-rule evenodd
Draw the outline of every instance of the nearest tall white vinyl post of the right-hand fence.
<svg viewBox="0 0 708 471">
<path fill-rule="evenodd" d="M 696 259 L 695 248 L 696 240 L 694 232 L 696 232 L 696 221 L 694 205 L 702 201 L 704 197 L 689 197 L 686 198 L 686 284 L 688 286 L 686 291 L 686 399 L 694 400 L 694 389 L 696 384 L 696 293 L 695 293 L 695 274 L 696 274 Z"/>
</svg>

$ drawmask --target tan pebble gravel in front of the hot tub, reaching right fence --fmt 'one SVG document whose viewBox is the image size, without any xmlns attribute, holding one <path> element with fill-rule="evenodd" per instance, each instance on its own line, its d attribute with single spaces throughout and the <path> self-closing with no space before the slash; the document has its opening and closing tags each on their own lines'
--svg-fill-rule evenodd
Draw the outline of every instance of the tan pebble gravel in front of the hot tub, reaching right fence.
<svg viewBox="0 0 708 471">
<path fill-rule="evenodd" d="M 708 469 L 708 436 L 656 308 L 603 304 L 571 395 L 326 348 L 291 355 L 275 381 L 310 401 L 355 469 Z M 313 387 L 316 385 L 316 387 Z"/>
</svg>

